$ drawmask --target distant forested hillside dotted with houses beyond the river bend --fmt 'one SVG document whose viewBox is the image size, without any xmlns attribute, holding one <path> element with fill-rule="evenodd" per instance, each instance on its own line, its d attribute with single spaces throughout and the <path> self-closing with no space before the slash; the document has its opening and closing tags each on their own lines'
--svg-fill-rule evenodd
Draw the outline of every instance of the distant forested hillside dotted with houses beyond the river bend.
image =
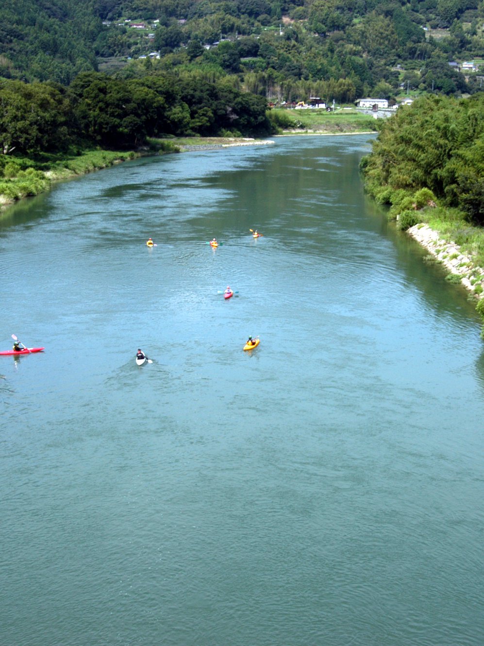
<svg viewBox="0 0 484 646">
<path fill-rule="evenodd" d="M 274 102 L 472 93 L 483 23 L 482 0 L 3 0 L 0 76 L 169 70 Z"/>
</svg>

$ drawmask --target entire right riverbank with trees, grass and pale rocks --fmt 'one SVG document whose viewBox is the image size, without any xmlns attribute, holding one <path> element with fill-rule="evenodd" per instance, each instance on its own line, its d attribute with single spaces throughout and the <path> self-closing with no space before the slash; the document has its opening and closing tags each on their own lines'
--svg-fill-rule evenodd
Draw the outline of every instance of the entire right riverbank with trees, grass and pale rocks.
<svg viewBox="0 0 484 646">
<path fill-rule="evenodd" d="M 484 321 L 483 116 L 482 93 L 422 97 L 383 123 L 360 168 L 388 218 L 470 289 Z"/>
</svg>

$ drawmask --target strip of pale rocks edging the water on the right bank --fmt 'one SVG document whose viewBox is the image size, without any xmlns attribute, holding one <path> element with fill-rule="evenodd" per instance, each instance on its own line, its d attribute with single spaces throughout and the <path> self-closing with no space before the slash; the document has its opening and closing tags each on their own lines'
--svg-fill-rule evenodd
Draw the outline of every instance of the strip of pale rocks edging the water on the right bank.
<svg viewBox="0 0 484 646">
<path fill-rule="evenodd" d="M 459 276 L 463 286 L 476 298 L 481 297 L 481 290 L 484 289 L 484 269 L 474 264 L 472 256 L 461 253 L 459 245 L 443 240 L 438 232 L 430 229 L 427 224 L 416 224 L 408 229 L 408 233 L 425 247 L 437 262 L 447 267 L 450 273 Z"/>
</svg>

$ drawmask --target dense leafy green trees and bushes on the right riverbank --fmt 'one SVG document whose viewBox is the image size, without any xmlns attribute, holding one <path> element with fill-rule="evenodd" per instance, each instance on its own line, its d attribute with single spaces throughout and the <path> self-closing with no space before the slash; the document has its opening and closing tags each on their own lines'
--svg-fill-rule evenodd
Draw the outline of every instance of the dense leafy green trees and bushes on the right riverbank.
<svg viewBox="0 0 484 646">
<path fill-rule="evenodd" d="M 422 205 L 459 207 L 470 224 L 484 225 L 484 94 L 469 99 L 426 96 L 385 121 L 370 156 L 361 161 L 378 202 L 416 224 Z M 420 193 L 422 194 L 422 193 Z"/>
</svg>

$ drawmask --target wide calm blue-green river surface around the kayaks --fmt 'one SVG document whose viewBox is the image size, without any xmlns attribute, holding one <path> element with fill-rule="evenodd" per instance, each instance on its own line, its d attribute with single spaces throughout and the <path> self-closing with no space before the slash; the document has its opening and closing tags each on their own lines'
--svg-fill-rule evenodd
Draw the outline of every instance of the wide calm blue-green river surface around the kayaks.
<svg viewBox="0 0 484 646">
<path fill-rule="evenodd" d="M 0 220 L 1 349 L 46 348 L 0 357 L 0 643 L 484 643 L 479 322 L 368 149 L 139 160 Z"/>
</svg>

